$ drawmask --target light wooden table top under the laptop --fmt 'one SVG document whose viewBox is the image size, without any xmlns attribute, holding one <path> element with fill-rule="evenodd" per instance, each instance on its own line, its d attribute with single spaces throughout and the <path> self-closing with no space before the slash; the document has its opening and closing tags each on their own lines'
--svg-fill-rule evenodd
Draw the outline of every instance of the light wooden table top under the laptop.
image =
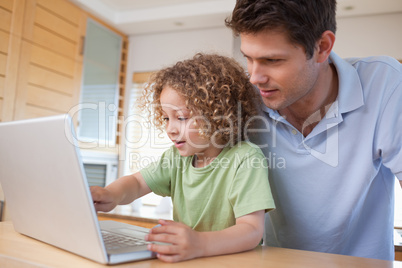
<svg viewBox="0 0 402 268">
<path fill-rule="evenodd" d="M 11 222 L 0 222 L 0 267 L 105 267 L 105 265 L 21 235 L 14 231 Z M 402 262 L 262 246 L 244 253 L 199 258 L 175 264 L 154 259 L 109 267 L 402 268 Z"/>
</svg>

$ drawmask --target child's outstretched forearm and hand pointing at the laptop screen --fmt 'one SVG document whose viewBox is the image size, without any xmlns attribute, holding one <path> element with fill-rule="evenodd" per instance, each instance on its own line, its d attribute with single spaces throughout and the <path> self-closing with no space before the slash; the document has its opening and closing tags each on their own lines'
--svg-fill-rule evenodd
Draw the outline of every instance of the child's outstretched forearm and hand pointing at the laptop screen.
<svg viewBox="0 0 402 268">
<path fill-rule="evenodd" d="M 125 205 L 151 192 L 140 172 L 123 176 L 105 188 L 91 187 L 96 211 L 110 211 L 117 205 Z"/>
</svg>

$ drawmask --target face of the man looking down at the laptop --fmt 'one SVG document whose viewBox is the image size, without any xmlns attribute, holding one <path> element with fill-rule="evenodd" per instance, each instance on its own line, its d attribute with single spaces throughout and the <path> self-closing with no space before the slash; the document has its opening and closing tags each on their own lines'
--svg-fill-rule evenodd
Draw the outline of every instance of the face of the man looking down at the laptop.
<svg viewBox="0 0 402 268">
<path fill-rule="evenodd" d="M 240 34 L 250 81 L 265 105 L 274 110 L 303 107 L 314 101 L 319 64 L 280 31 Z M 300 106 L 301 105 L 301 106 Z"/>
</svg>

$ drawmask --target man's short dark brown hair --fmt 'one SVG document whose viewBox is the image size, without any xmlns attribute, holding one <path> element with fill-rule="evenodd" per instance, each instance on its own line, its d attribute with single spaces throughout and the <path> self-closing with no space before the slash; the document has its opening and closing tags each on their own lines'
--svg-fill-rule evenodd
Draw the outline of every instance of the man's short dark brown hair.
<svg viewBox="0 0 402 268">
<path fill-rule="evenodd" d="M 336 0 L 237 0 L 226 26 L 236 35 L 282 30 L 310 59 L 322 34 L 336 32 Z"/>
</svg>

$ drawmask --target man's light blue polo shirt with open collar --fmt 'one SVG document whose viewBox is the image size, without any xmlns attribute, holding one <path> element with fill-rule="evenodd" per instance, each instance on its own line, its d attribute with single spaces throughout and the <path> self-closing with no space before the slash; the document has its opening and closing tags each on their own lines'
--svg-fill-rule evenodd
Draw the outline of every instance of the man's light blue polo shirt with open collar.
<svg viewBox="0 0 402 268">
<path fill-rule="evenodd" d="M 313 131 L 264 106 L 253 142 L 267 158 L 276 210 L 265 244 L 394 259 L 395 175 L 402 180 L 402 65 L 331 53 L 339 93 Z M 402 211 L 400 212 L 402 213 Z"/>
</svg>

